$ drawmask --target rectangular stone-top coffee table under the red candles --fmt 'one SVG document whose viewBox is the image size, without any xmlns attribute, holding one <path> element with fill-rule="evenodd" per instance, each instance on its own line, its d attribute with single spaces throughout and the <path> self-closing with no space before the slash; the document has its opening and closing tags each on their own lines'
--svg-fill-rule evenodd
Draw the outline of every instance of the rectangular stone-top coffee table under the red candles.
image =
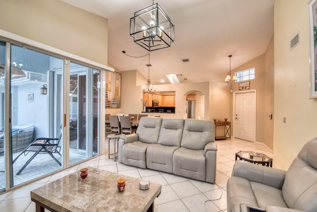
<svg viewBox="0 0 317 212">
<path fill-rule="evenodd" d="M 57 179 L 31 191 L 36 212 L 146 212 L 154 211 L 154 200 L 161 185 L 150 182 L 148 190 L 139 189 L 142 179 L 87 167 L 88 177 L 80 171 Z M 124 178 L 125 190 L 117 191 L 117 179 Z"/>
</svg>

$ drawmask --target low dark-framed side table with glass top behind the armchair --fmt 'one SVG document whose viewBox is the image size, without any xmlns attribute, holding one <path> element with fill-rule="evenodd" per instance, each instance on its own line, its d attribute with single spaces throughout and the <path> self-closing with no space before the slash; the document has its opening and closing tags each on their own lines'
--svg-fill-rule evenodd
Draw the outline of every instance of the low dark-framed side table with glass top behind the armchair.
<svg viewBox="0 0 317 212">
<path fill-rule="evenodd" d="M 253 153 L 251 151 L 240 151 L 236 153 L 236 160 L 245 160 L 249 162 L 253 162 L 255 164 L 262 164 L 264 166 L 272 167 L 273 159 L 264 155 L 263 153 Z"/>
</svg>

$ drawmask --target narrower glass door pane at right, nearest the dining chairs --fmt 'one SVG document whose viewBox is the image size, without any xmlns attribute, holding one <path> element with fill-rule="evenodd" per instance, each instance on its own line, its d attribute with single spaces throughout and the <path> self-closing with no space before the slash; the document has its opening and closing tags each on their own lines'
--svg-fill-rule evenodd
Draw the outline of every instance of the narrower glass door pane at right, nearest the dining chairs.
<svg viewBox="0 0 317 212">
<path fill-rule="evenodd" d="M 99 154 L 100 70 L 70 63 L 69 164 Z"/>
</svg>

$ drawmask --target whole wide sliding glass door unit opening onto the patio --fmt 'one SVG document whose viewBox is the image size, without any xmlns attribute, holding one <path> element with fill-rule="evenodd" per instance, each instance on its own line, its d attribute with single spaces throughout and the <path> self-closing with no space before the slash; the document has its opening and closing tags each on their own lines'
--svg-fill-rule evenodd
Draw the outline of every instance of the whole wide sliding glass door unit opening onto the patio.
<svg viewBox="0 0 317 212">
<path fill-rule="evenodd" d="M 101 96 L 100 70 L 0 42 L 0 192 L 99 155 Z"/>
</svg>

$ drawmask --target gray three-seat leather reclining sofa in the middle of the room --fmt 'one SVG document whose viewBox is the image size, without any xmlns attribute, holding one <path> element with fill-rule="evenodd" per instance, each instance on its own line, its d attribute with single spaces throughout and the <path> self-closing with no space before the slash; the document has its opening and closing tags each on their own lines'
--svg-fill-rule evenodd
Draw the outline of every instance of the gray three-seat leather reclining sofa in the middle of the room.
<svg viewBox="0 0 317 212">
<path fill-rule="evenodd" d="M 215 182 L 213 121 L 142 117 L 136 134 L 121 135 L 118 145 L 124 164 Z"/>
</svg>

